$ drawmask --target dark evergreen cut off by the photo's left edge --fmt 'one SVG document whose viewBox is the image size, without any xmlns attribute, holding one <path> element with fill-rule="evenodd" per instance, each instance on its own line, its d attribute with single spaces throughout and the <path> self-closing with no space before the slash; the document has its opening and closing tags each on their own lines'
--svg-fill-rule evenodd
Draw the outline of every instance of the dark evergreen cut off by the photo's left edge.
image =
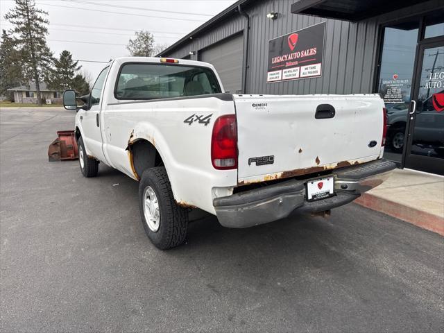
<svg viewBox="0 0 444 333">
<path fill-rule="evenodd" d="M 6 96 L 6 90 L 24 82 L 22 67 L 19 65 L 19 52 L 15 40 L 3 30 L 0 44 L 0 95 Z"/>
</svg>

